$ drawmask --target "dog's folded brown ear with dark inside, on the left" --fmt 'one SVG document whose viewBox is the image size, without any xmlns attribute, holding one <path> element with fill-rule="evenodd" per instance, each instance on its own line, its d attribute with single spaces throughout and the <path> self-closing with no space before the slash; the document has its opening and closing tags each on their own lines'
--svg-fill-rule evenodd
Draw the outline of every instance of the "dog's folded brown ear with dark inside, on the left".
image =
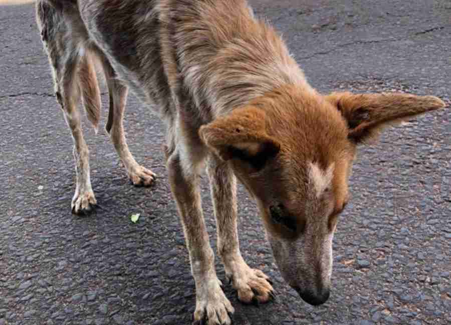
<svg viewBox="0 0 451 325">
<path fill-rule="evenodd" d="M 266 131 L 266 114 L 257 107 L 237 108 L 199 129 L 202 141 L 223 160 L 237 158 L 263 168 L 280 144 Z"/>
</svg>

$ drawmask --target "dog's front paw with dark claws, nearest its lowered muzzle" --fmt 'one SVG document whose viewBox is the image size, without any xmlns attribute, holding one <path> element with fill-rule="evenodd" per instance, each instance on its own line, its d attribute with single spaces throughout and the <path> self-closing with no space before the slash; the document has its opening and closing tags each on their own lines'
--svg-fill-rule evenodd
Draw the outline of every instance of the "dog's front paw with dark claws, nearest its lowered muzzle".
<svg viewBox="0 0 451 325">
<path fill-rule="evenodd" d="M 249 267 L 244 260 L 234 266 L 234 272 L 226 272 L 226 276 L 238 291 L 238 299 L 241 302 L 258 306 L 260 303 L 275 300 L 272 282 L 265 273 Z"/>
</svg>

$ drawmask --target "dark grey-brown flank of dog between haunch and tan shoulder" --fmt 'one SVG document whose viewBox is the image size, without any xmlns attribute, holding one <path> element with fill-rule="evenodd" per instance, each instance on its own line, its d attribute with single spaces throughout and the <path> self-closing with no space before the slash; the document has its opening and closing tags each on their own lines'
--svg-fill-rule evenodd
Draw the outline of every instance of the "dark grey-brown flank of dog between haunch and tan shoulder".
<svg viewBox="0 0 451 325">
<path fill-rule="evenodd" d="M 170 113 L 170 90 L 161 60 L 159 0 L 82 0 L 90 37 L 119 78 L 145 103 Z"/>
</svg>

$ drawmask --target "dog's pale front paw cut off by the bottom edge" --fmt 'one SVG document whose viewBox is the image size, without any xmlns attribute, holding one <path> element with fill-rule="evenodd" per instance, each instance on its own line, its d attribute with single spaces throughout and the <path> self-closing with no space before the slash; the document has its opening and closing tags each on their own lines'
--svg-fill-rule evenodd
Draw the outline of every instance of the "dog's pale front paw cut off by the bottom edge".
<svg viewBox="0 0 451 325">
<path fill-rule="evenodd" d="M 204 292 L 198 292 L 193 325 L 231 325 L 235 312 L 225 296 L 219 280 L 208 285 Z"/>
</svg>

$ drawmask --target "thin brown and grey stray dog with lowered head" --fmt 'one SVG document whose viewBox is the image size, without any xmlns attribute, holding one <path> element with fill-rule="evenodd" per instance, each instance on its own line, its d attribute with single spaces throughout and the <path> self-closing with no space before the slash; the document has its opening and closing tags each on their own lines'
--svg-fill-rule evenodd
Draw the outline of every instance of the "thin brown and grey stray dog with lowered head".
<svg viewBox="0 0 451 325">
<path fill-rule="evenodd" d="M 230 324 L 234 308 L 216 277 L 202 215 L 204 162 L 217 222 L 217 249 L 243 302 L 270 301 L 273 287 L 239 248 L 236 178 L 257 201 L 284 279 L 310 304 L 330 292 L 332 237 L 348 201 L 357 145 L 385 125 L 444 107 L 404 93 L 323 95 L 306 81 L 280 36 L 245 0 L 39 0 L 37 21 L 57 99 L 74 138 L 74 212 L 96 204 L 79 100 L 97 127 L 93 60 L 110 93 L 106 129 L 135 184 L 154 173 L 127 148 L 127 90 L 166 122 L 169 181 L 196 286 L 195 323 Z"/>
</svg>

